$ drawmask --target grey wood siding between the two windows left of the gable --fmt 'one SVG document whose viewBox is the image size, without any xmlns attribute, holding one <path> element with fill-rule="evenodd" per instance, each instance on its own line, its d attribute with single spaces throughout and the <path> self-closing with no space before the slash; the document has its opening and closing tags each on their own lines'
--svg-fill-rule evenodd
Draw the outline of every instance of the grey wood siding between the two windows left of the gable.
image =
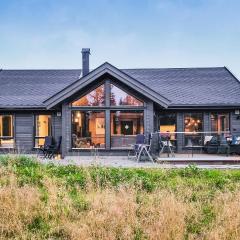
<svg viewBox="0 0 240 240">
<path fill-rule="evenodd" d="M 16 148 L 20 153 L 28 153 L 33 149 L 33 114 L 15 114 Z"/>
</svg>

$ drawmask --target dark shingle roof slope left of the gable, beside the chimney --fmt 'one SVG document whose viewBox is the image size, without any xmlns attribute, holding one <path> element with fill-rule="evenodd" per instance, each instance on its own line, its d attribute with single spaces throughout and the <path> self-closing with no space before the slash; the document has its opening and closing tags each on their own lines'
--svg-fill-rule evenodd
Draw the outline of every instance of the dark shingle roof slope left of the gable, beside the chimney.
<svg viewBox="0 0 240 240">
<path fill-rule="evenodd" d="M 2 70 L 0 108 L 41 107 L 43 101 L 76 81 L 81 70 Z"/>
</svg>

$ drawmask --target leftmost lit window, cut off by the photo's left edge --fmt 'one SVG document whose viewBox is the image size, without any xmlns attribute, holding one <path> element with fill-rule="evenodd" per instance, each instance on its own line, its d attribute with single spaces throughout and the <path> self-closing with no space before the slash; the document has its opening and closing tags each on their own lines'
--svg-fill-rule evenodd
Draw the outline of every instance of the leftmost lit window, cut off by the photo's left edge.
<svg viewBox="0 0 240 240">
<path fill-rule="evenodd" d="M 13 115 L 0 115 L 0 148 L 14 147 Z"/>
</svg>

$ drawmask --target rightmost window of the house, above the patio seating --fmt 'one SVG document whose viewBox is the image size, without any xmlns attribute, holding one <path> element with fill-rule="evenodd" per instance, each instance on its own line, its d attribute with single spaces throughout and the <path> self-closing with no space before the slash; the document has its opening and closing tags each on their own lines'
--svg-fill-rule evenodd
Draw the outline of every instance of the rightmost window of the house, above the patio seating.
<svg viewBox="0 0 240 240">
<path fill-rule="evenodd" d="M 228 132 L 229 131 L 229 113 L 212 113 L 211 114 L 211 131 Z"/>
</svg>

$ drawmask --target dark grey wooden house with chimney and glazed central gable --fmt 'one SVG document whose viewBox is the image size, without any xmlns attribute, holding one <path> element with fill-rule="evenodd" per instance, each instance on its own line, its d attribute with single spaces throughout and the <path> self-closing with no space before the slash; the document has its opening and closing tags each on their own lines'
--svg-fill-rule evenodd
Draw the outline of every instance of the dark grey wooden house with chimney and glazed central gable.
<svg viewBox="0 0 240 240">
<path fill-rule="evenodd" d="M 32 152 L 48 135 L 62 136 L 62 154 L 94 145 L 119 154 L 136 134 L 173 135 L 178 151 L 207 133 L 240 134 L 240 83 L 226 67 L 1 70 L 0 148 Z"/>
</svg>

